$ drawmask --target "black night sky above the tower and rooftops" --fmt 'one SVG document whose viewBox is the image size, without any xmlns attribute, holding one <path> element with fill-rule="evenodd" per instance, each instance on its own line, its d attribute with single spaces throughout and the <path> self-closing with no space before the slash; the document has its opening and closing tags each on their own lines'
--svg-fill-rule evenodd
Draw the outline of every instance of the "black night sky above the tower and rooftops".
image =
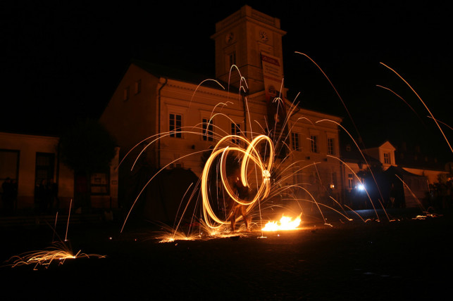
<svg viewBox="0 0 453 301">
<path fill-rule="evenodd" d="M 91 2 L 0 4 L 0 130 L 52 134 L 77 118 L 98 117 L 131 58 L 213 77 L 215 23 L 249 4 L 280 18 L 287 31 L 285 85 L 290 95 L 300 92 L 302 106 L 345 117 L 347 129 L 364 139 L 428 135 L 448 148 L 414 92 L 380 65 L 399 72 L 452 127 L 446 1 Z M 318 63 L 349 114 L 314 63 L 294 51 Z"/>
</svg>

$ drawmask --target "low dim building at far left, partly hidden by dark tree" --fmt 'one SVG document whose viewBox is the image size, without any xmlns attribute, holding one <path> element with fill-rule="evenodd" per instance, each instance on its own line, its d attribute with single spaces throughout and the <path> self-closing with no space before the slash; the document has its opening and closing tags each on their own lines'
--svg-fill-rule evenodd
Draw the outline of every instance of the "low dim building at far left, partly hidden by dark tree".
<svg viewBox="0 0 453 301">
<path fill-rule="evenodd" d="M 14 210 L 39 210 L 39 185 L 45 181 L 53 181 L 58 186 L 59 204 L 55 201 L 54 208 L 57 205 L 60 209 L 69 208 L 74 198 L 75 179 L 73 171 L 59 160 L 58 140 L 56 136 L 0 132 L 0 181 L 3 184 L 10 178 L 17 184 Z M 118 149 L 108 172 L 92 174 L 92 207 L 108 209 L 118 203 L 118 173 L 114 169 L 117 165 Z M 0 192 L 4 192 L 1 187 Z"/>
</svg>

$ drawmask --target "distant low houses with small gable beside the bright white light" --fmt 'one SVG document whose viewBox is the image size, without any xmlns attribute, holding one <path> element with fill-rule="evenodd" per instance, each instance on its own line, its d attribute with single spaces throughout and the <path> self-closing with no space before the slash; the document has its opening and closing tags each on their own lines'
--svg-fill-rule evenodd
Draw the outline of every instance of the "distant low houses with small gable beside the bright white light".
<svg viewBox="0 0 453 301">
<path fill-rule="evenodd" d="M 447 172 L 440 162 L 428 160 L 427 156 L 419 152 L 418 158 L 421 160 L 418 162 L 408 158 L 404 160 L 404 151 L 397 150 L 390 141 L 361 151 L 356 146 L 345 144 L 342 147 L 345 193 L 352 196 L 357 191 L 368 188 L 372 191 L 371 195 L 385 205 L 391 206 L 396 194 L 400 198 L 397 206 L 418 207 L 428 195 L 430 186 L 438 181 L 438 176 Z M 417 156 L 412 159 L 414 158 Z"/>
</svg>

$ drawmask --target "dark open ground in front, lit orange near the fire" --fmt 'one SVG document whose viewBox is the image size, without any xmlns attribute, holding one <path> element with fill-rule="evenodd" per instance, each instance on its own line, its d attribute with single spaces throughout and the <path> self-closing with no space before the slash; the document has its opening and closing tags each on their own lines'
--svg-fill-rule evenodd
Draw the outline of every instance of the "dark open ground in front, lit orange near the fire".
<svg viewBox="0 0 453 301">
<path fill-rule="evenodd" d="M 105 258 L 1 267 L 1 300 L 435 300 L 451 298 L 451 214 L 335 222 L 299 231 L 157 243 L 118 224 L 69 229 L 73 250 Z M 64 237 L 64 230 L 63 237 Z M 43 227 L 1 230 L 1 260 L 44 250 Z"/>
</svg>

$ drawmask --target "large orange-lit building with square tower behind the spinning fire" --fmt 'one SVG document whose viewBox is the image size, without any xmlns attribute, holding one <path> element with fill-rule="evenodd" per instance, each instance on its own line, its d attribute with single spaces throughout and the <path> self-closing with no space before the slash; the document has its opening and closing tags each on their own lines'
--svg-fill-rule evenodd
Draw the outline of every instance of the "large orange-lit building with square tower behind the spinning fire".
<svg viewBox="0 0 453 301">
<path fill-rule="evenodd" d="M 339 198 L 342 120 L 286 98 L 284 34 L 278 18 L 244 6 L 218 22 L 211 36 L 216 79 L 132 62 L 100 118 L 123 151 L 125 174 L 134 173 L 138 158 L 156 171 L 182 167 L 199 177 L 204 154 L 223 137 L 252 141 L 266 134 L 278 151 L 278 185 Z M 229 142 L 241 144 L 234 137 Z"/>
</svg>

